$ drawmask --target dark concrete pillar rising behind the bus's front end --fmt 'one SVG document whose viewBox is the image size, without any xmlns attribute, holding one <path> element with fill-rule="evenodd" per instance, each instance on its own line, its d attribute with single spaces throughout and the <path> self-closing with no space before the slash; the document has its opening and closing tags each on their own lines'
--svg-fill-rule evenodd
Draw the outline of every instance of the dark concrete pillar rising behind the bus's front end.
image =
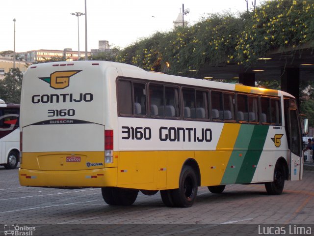
<svg viewBox="0 0 314 236">
<path fill-rule="evenodd" d="M 281 68 L 281 90 L 290 93 L 300 105 L 300 69 L 298 67 Z"/>
</svg>

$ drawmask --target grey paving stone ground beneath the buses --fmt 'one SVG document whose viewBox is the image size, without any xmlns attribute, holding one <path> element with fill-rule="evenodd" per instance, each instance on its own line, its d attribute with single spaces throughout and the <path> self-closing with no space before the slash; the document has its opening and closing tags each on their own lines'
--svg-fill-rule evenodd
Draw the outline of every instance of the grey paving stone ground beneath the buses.
<svg viewBox="0 0 314 236">
<path fill-rule="evenodd" d="M 32 224 L 39 227 L 37 233 L 40 229 L 48 230 L 49 226 L 53 229 L 57 224 L 60 229 L 67 229 L 69 225 L 76 227 L 76 230 L 69 229 L 63 235 L 74 232 L 85 235 L 86 225 L 89 232 L 86 235 L 90 235 L 90 228 L 102 229 L 108 235 L 115 235 L 117 228 L 125 229 L 125 235 L 153 235 L 145 234 L 147 232 L 155 235 L 208 235 L 209 231 L 215 235 L 213 232 L 218 226 L 228 224 L 243 225 L 256 233 L 259 224 L 313 223 L 314 168 L 305 168 L 301 181 L 286 181 L 284 192 L 279 196 L 267 195 L 263 184 L 228 185 L 222 194 L 212 194 L 207 187 L 200 187 L 193 207 L 171 208 L 163 205 L 159 193 L 154 196 L 139 193 L 134 205 L 120 207 L 106 205 L 99 188 L 24 187 L 19 184 L 18 169 L 0 167 L 0 224 Z M 223 227 L 216 230 L 217 235 L 222 231 L 225 234 L 220 235 L 229 235 L 230 230 L 230 235 L 235 233 L 230 226 Z M 168 228 L 171 230 L 166 230 Z M 131 233 L 133 230 L 134 234 Z M 98 235 L 97 232 L 94 235 Z M 48 235 L 60 234 L 54 229 Z"/>
</svg>

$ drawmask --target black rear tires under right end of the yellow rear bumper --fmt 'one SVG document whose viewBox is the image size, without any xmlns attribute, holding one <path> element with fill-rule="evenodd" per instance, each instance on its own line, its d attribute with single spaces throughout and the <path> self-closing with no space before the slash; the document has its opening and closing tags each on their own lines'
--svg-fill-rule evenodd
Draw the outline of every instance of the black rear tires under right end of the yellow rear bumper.
<svg viewBox="0 0 314 236">
<path fill-rule="evenodd" d="M 108 205 L 131 206 L 137 198 L 138 190 L 129 188 L 103 187 L 102 195 Z"/>
</svg>

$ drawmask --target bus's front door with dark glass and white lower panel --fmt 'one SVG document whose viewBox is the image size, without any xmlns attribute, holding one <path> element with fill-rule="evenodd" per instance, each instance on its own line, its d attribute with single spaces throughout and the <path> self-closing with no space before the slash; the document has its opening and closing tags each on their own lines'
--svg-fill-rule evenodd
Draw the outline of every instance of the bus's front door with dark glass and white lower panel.
<svg viewBox="0 0 314 236">
<path fill-rule="evenodd" d="M 300 120 L 297 110 L 296 100 L 292 98 L 284 98 L 285 105 L 285 128 L 288 139 L 288 168 L 289 179 L 302 179 L 302 142 Z"/>
</svg>

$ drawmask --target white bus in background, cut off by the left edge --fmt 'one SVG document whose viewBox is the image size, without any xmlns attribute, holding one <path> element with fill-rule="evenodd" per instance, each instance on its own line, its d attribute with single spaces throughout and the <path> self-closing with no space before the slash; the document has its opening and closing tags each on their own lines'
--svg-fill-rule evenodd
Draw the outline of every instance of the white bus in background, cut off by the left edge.
<svg viewBox="0 0 314 236">
<path fill-rule="evenodd" d="M 20 156 L 20 105 L 0 99 L 0 165 L 15 169 Z"/>
</svg>

